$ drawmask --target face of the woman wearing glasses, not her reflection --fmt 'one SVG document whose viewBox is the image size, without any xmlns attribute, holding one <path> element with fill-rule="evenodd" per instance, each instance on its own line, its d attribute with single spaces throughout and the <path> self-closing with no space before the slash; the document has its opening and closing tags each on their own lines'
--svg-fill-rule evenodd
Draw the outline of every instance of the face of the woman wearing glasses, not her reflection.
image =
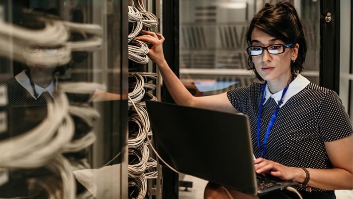
<svg viewBox="0 0 353 199">
<path fill-rule="evenodd" d="M 254 28 L 251 39 L 252 46 L 267 47 L 274 44 L 288 45 L 260 31 L 258 28 Z M 276 55 L 269 54 L 268 51 L 264 49 L 261 55 L 252 56 L 256 71 L 266 81 L 288 81 L 291 76 L 290 63 L 297 58 L 298 48 L 299 44 L 295 44 L 292 47 L 285 48 L 283 53 Z"/>
</svg>

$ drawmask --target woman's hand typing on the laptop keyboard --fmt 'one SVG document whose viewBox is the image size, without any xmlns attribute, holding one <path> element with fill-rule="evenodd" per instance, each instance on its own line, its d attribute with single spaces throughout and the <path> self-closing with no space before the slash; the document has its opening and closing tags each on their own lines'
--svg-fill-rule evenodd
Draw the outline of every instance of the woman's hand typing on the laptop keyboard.
<svg viewBox="0 0 353 199">
<path fill-rule="evenodd" d="M 278 177 L 286 181 L 303 182 L 305 180 L 305 172 L 301 168 L 287 167 L 277 162 L 258 158 L 254 160 L 255 171 L 258 174 L 269 173 L 271 176 Z"/>
</svg>

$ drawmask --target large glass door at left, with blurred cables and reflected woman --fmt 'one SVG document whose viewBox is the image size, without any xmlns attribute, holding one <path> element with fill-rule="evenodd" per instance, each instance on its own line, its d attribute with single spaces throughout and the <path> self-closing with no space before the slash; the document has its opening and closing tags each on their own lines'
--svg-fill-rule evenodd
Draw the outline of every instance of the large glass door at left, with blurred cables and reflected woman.
<svg viewBox="0 0 353 199">
<path fill-rule="evenodd" d="M 0 198 L 123 195 L 121 7 L 0 1 Z"/>
</svg>

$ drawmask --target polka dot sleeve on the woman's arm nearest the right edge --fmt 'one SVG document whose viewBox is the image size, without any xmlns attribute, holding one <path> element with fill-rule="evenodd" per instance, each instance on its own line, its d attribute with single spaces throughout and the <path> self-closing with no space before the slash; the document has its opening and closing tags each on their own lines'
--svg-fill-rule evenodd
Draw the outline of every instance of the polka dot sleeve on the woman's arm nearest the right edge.
<svg viewBox="0 0 353 199">
<path fill-rule="evenodd" d="M 318 125 L 325 142 L 338 140 L 353 133 L 350 118 L 336 92 L 326 92 L 321 101 L 318 109 Z"/>
</svg>

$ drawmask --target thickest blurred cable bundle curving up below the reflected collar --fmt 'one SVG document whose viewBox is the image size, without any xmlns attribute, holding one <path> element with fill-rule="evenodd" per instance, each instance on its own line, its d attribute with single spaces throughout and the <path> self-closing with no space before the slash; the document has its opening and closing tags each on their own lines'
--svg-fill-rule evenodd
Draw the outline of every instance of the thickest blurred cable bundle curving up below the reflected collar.
<svg viewBox="0 0 353 199">
<path fill-rule="evenodd" d="M 0 167 L 44 166 L 74 135 L 73 121 L 67 116 L 68 107 L 65 94 L 60 94 L 57 103 L 48 103 L 47 116 L 39 125 L 20 136 L 1 141 Z"/>
</svg>

